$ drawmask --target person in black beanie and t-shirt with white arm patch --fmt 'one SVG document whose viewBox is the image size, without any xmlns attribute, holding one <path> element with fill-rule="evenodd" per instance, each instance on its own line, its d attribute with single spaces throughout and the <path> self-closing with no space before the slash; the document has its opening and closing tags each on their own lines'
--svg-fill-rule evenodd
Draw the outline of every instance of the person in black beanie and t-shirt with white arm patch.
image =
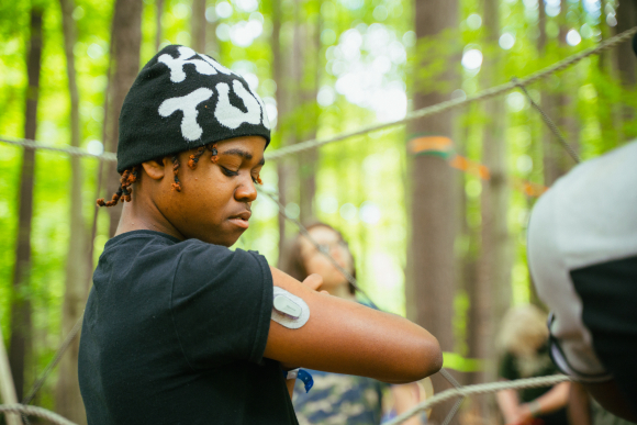
<svg viewBox="0 0 637 425">
<path fill-rule="evenodd" d="M 120 116 L 122 184 L 98 201 L 127 202 L 83 318 L 90 425 L 297 424 L 290 369 L 391 383 L 440 369 L 424 328 L 228 249 L 269 141 L 261 100 L 209 56 L 168 46 L 141 70 Z"/>
</svg>

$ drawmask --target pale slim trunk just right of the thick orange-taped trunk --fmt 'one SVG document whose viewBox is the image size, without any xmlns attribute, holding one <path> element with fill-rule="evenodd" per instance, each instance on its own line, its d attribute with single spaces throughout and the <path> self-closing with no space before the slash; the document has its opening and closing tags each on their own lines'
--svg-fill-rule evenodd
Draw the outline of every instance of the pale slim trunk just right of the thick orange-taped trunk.
<svg viewBox="0 0 637 425">
<path fill-rule="evenodd" d="M 498 0 L 482 1 L 487 54 L 480 70 L 483 87 L 495 86 L 501 54 L 500 13 Z M 476 324 L 476 353 L 482 360 L 481 382 L 496 379 L 495 329 L 511 304 L 511 244 L 506 213 L 509 184 L 506 177 L 506 144 L 504 141 L 505 110 L 502 98 L 482 104 L 487 122 L 482 135 L 482 163 L 490 176 L 483 180 L 481 193 L 482 237 L 476 281 L 478 323 Z M 491 399 L 483 399 L 482 417 L 492 417 Z"/>
</svg>

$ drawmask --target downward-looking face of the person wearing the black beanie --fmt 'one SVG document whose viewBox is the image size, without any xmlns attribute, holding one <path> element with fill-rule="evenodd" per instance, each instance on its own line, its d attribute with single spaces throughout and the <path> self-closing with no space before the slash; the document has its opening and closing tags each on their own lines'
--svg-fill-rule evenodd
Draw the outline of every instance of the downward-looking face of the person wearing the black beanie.
<svg viewBox="0 0 637 425">
<path fill-rule="evenodd" d="M 164 159 L 165 177 L 154 193 L 160 213 L 185 238 L 231 246 L 248 228 L 250 206 L 257 198 L 255 180 L 264 166 L 266 141 L 259 136 L 217 143 L 217 160 L 206 150 L 194 170 L 193 153 L 179 154 L 181 191 L 172 189 L 172 163 Z"/>
</svg>

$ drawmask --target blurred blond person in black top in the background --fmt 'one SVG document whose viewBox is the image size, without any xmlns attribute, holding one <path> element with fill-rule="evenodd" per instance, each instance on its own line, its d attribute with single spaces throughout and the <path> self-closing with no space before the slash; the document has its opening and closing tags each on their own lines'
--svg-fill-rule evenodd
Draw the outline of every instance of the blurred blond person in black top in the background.
<svg viewBox="0 0 637 425">
<path fill-rule="evenodd" d="M 547 315 L 530 304 L 506 313 L 498 336 L 502 380 L 559 372 L 549 356 L 546 321 Z M 552 388 L 504 390 L 496 394 L 498 405 L 507 425 L 567 425 L 569 388 L 570 382 L 561 382 Z"/>
</svg>

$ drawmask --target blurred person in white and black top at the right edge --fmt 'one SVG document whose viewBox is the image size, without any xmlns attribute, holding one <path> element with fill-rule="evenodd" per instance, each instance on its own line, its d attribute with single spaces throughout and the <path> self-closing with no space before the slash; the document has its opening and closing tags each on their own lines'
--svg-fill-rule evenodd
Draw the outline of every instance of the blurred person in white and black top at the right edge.
<svg viewBox="0 0 637 425">
<path fill-rule="evenodd" d="M 528 265 L 556 365 L 637 422 L 637 142 L 585 161 L 535 204 Z"/>
</svg>

